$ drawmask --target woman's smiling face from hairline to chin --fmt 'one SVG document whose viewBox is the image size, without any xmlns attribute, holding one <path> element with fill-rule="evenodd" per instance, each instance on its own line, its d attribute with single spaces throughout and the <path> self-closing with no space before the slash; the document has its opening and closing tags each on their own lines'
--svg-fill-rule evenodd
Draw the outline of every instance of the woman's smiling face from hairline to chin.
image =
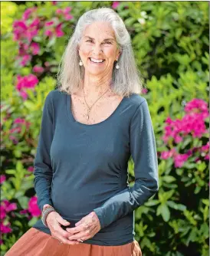
<svg viewBox="0 0 210 256">
<path fill-rule="evenodd" d="M 108 22 L 102 21 L 87 26 L 78 45 L 78 50 L 84 64 L 85 74 L 106 75 L 112 73 L 113 63 L 120 56 L 113 29 Z M 102 60 L 103 62 L 100 63 L 94 62 Z"/>
</svg>

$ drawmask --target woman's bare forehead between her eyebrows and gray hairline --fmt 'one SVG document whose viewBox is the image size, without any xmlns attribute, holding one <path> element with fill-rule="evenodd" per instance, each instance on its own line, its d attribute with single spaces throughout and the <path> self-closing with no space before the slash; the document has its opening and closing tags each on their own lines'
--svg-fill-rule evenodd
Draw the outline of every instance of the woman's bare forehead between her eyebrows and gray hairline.
<svg viewBox="0 0 210 256">
<path fill-rule="evenodd" d="M 115 34 L 113 28 L 109 22 L 96 21 L 87 27 L 84 30 L 83 37 L 90 36 L 91 38 L 113 38 L 115 39 Z"/>
</svg>

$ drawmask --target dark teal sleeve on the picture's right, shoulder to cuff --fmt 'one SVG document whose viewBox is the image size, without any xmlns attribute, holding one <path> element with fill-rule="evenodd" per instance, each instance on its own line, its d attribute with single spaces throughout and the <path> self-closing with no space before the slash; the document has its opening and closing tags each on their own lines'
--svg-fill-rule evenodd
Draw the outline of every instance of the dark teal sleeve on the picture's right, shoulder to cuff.
<svg viewBox="0 0 210 256">
<path fill-rule="evenodd" d="M 134 162 L 135 184 L 94 209 L 101 228 L 133 212 L 159 189 L 156 141 L 146 100 L 137 107 L 130 123 L 130 153 Z"/>
</svg>

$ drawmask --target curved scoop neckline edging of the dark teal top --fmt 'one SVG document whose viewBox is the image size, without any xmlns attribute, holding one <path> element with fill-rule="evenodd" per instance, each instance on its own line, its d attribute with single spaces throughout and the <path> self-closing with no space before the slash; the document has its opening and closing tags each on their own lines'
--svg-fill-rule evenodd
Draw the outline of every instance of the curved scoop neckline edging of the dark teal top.
<svg viewBox="0 0 210 256">
<path fill-rule="evenodd" d="M 84 126 L 84 127 L 93 127 L 93 126 L 100 126 L 104 123 L 108 123 L 115 115 L 116 113 L 120 110 L 120 107 L 123 104 L 123 101 L 126 100 L 126 97 L 123 97 L 123 100 L 120 101 L 120 103 L 118 104 L 118 106 L 116 107 L 116 109 L 113 111 L 113 113 L 110 114 L 109 117 L 107 117 L 107 119 L 99 122 L 99 123 L 92 123 L 92 124 L 86 124 L 86 123 L 80 123 L 77 120 L 75 120 L 74 115 L 72 113 L 71 110 L 71 94 L 66 94 L 66 110 L 67 110 L 67 116 L 69 117 L 69 119 L 71 121 L 73 121 L 74 123 L 76 123 L 78 126 Z"/>
</svg>

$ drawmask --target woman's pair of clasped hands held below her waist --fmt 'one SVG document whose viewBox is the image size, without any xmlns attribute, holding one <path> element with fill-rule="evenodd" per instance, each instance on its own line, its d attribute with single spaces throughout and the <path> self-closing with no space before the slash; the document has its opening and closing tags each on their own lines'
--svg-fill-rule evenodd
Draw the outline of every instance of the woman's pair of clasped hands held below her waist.
<svg viewBox="0 0 210 256">
<path fill-rule="evenodd" d="M 66 231 L 61 228 L 61 225 L 70 225 L 70 222 L 64 220 L 57 212 L 51 212 L 48 215 L 47 223 L 51 236 L 66 245 L 77 245 L 81 242 L 80 239 L 85 241 L 100 231 L 100 221 L 95 212 L 90 212 L 75 223 L 74 228 L 66 228 Z"/>
</svg>

